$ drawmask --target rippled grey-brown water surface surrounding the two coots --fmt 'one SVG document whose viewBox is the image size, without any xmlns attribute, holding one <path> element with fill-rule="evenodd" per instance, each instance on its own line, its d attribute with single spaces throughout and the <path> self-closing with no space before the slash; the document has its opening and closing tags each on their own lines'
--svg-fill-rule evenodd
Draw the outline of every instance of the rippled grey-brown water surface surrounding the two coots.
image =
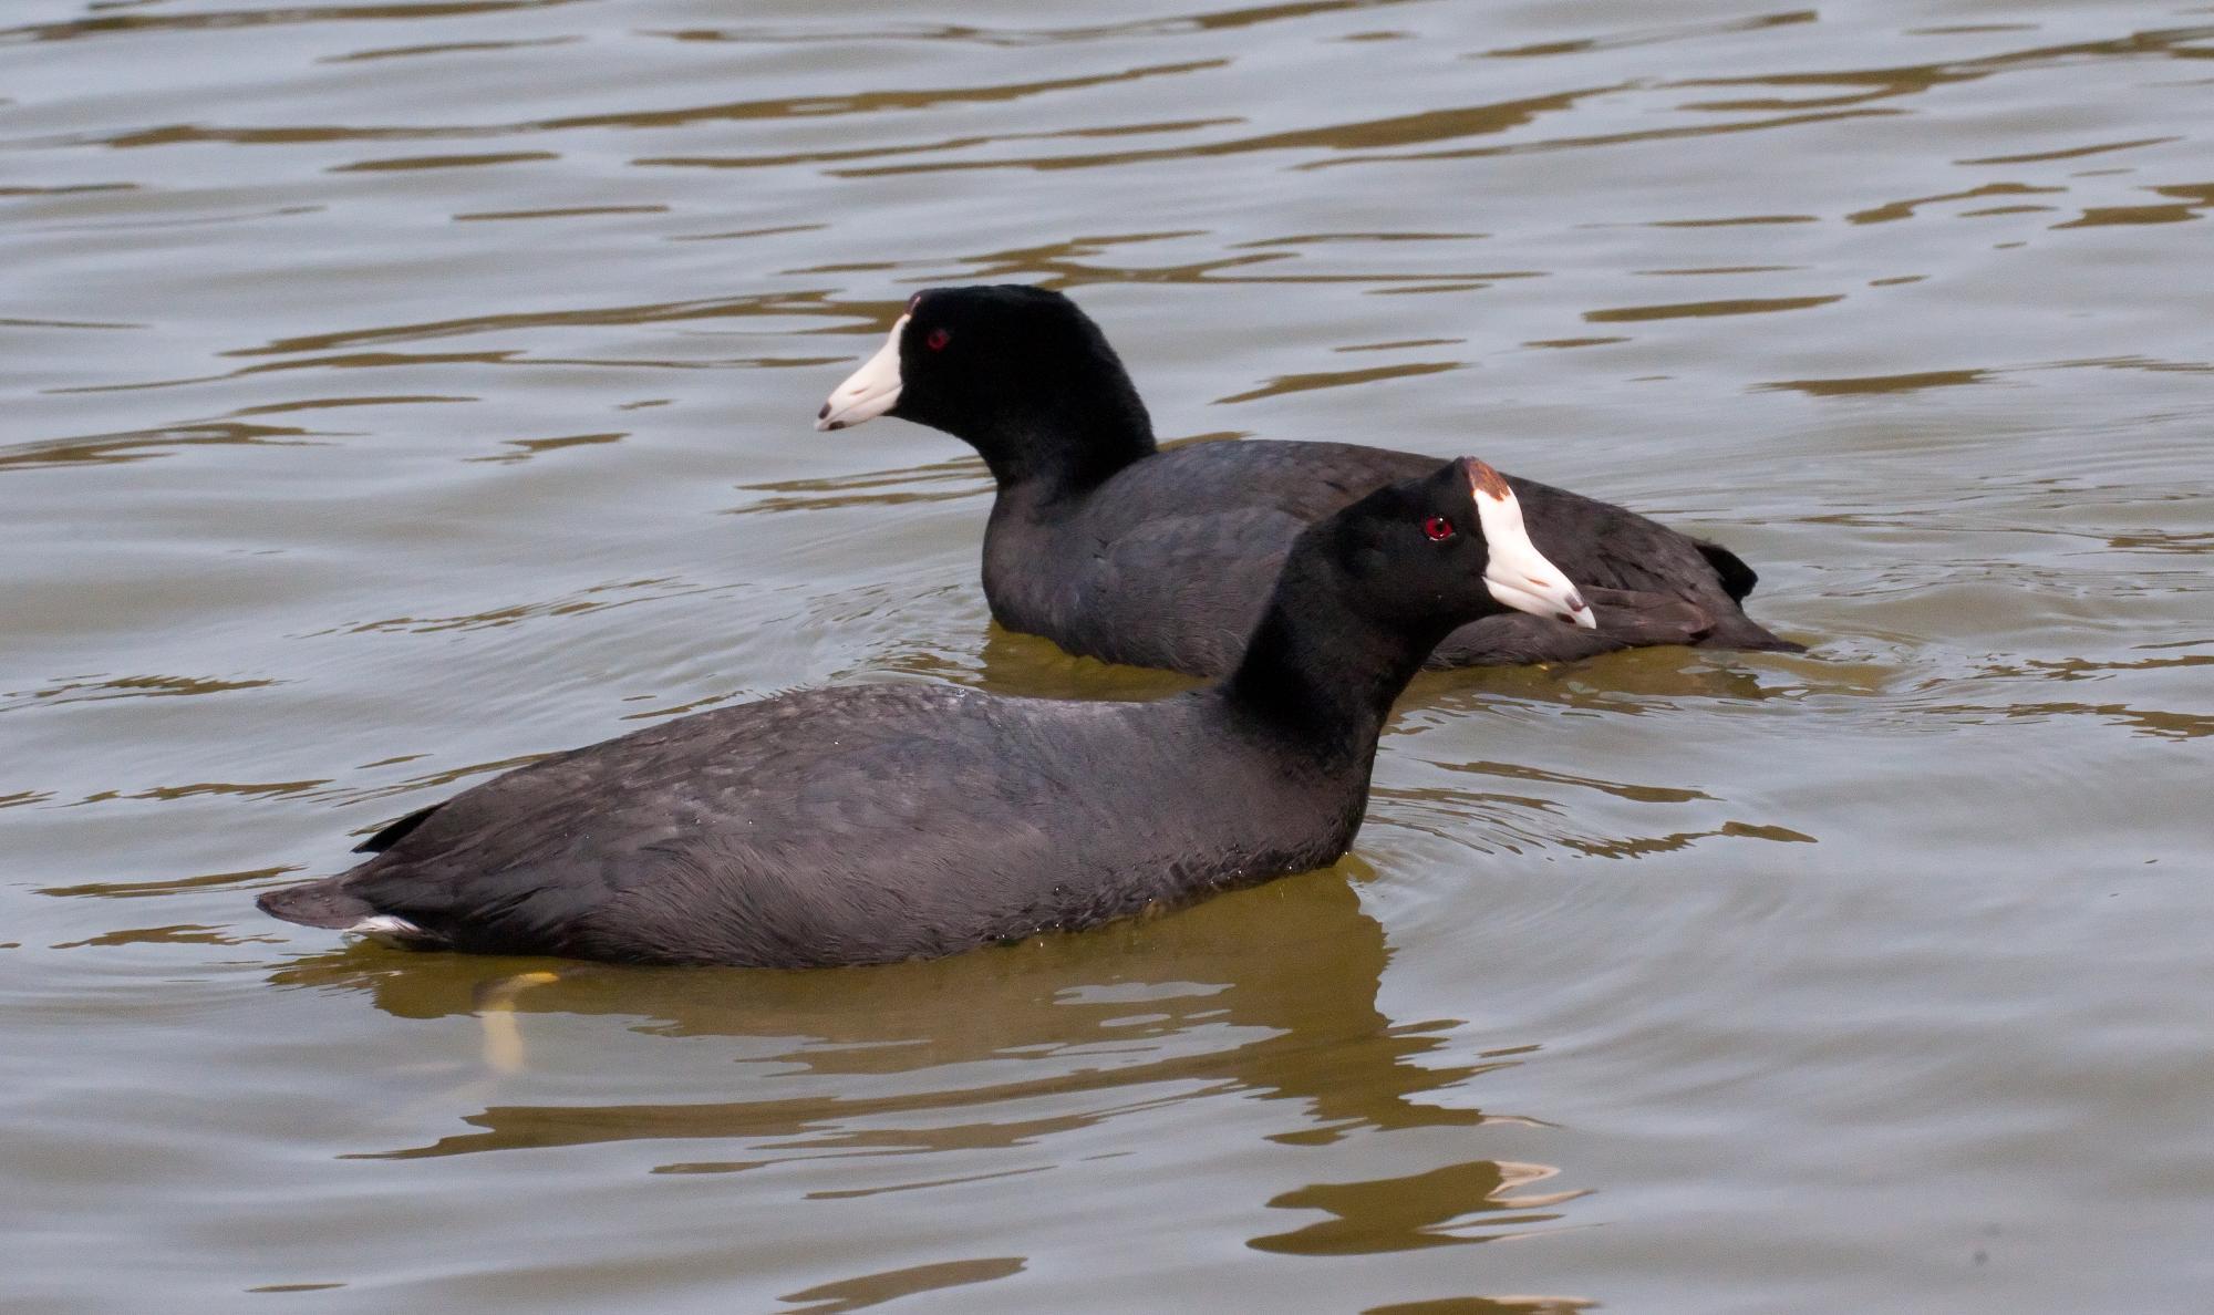
<svg viewBox="0 0 2214 1315">
<path fill-rule="evenodd" d="M 2203 1308 L 2214 7 L 0 22 L 0 1304 Z M 252 910 L 640 719 L 1176 688 L 987 627 L 952 441 L 808 429 L 979 279 L 1813 653 L 1426 677 L 1337 870 L 943 963 Z"/>
</svg>

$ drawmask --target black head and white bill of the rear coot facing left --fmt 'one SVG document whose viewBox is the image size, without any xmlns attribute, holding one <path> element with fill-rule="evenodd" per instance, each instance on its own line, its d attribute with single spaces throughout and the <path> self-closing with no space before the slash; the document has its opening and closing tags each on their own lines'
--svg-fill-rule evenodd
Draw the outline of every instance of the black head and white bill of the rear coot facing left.
<svg viewBox="0 0 2214 1315">
<path fill-rule="evenodd" d="M 1001 483 L 1094 483 L 1153 452 L 1153 423 L 1092 317 L 1047 288 L 930 288 L 817 412 L 899 416 L 961 438 Z"/>
</svg>

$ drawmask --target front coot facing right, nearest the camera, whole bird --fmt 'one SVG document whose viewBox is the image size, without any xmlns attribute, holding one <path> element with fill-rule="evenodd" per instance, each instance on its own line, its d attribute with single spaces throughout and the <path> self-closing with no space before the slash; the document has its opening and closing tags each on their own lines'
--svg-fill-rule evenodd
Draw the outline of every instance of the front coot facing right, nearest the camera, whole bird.
<svg viewBox="0 0 2214 1315">
<path fill-rule="evenodd" d="M 370 837 L 279 919 L 498 954 L 928 959 L 1320 868 L 1377 731 L 1457 624 L 1581 615 L 1486 465 L 1300 536 L 1244 660 L 1147 704 L 941 684 L 790 693 L 534 762 Z"/>
</svg>

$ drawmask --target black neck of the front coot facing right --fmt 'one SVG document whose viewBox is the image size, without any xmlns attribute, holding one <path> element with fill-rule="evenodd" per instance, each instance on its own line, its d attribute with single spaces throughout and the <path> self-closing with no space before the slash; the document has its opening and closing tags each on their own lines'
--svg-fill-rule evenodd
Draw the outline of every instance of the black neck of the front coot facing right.
<svg viewBox="0 0 2214 1315">
<path fill-rule="evenodd" d="M 1297 742 L 1306 762 L 1366 777 L 1393 702 L 1450 631 L 1379 624 L 1353 607 L 1342 578 L 1293 551 L 1215 695 L 1240 722 Z"/>
</svg>

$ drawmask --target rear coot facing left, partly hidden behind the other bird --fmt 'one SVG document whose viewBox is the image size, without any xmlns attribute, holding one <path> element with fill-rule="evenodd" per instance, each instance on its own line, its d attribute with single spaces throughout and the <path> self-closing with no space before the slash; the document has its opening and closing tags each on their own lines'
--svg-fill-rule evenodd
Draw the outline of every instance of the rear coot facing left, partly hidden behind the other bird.
<svg viewBox="0 0 2214 1315">
<path fill-rule="evenodd" d="M 899 416 L 961 438 L 992 467 L 983 591 L 999 624 L 1072 653 L 1220 675 L 1238 662 L 1302 527 L 1437 465 L 1348 443 L 1160 449 L 1122 361 L 1061 292 L 932 288 L 824 403 L 815 427 Z M 1738 600 L 1736 553 L 1634 511 L 1508 476 L 1530 536 L 1599 609 L 1596 627 L 1494 615 L 1432 666 L 1559 662 L 1638 644 L 1800 649 Z"/>
</svg>

